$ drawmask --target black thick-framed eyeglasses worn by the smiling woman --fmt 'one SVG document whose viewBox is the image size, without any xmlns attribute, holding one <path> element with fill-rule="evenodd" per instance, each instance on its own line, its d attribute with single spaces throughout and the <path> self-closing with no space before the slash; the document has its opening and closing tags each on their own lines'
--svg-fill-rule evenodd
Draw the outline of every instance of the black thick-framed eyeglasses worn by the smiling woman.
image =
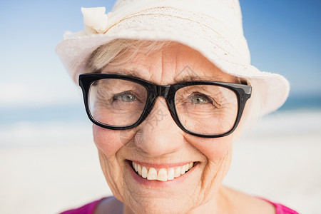
<svg viewBox="0 0 321 214">
<path fill-rule="evenodd" d="M 103 128 L 126 130 L 141 124 L 158 96 L 183 131 L 203 138 L 228 136 L 240 122 L 251 86 L 217 81 L 188 81 L 168 86 L 132 76 L 87 73 L 79 86 L 89 119 Z"/>
</svg>

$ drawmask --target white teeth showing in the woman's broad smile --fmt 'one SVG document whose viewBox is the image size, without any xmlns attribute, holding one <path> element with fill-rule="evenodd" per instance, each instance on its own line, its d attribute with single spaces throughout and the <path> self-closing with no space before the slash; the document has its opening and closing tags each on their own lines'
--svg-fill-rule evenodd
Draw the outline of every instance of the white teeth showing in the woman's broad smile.
<svg viewBox="0 0 321 214">
<path fill-rule="evenodd" d="M 145 178 L 147 180 L 174 180 L 175 178 L 179 178 L 182 175 L 185 175 L 189 170 L 191 170 L 195 166 L 196 162 L 186 163 L 185 165 L 179 165 L 170 168 L 153 168 L 145 165 L 141 165 L 131 161 L 131 165 L 136 174 L 141 178 Z"/>
</svg>

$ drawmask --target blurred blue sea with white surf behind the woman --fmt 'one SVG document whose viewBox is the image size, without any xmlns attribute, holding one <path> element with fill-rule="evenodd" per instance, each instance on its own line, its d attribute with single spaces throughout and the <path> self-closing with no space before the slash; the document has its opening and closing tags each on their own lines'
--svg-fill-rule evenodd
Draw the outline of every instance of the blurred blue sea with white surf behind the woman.
<svg viewBox="0 0 321 214">
<path fill-rule="evenodd" d="M 321 94 L 290 96 L 274 113 L 264 116 L 255 133 L 260 135 L 321 132 Z M 46 141 L 44 143 L 44 138 Z M 78 140 L 74 140 L 77 138 Z M 0 107 L 0 148 L 92 141 L 91 122 L 83 103 Z"/>
</svg>

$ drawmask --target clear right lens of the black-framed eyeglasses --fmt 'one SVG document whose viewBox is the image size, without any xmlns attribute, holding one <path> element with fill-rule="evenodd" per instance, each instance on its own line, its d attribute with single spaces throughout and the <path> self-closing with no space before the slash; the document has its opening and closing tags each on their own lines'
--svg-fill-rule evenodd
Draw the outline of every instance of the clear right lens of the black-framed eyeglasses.
<svg viewBox="0 0 321 214">
<path fill-rule="evenodd" d="M 228 88 L 196 85 L 175 94 L 180 123 L 193 133 L 221 134 L 230 131 L 238 115 L 238 98 Z"/>
</svg>

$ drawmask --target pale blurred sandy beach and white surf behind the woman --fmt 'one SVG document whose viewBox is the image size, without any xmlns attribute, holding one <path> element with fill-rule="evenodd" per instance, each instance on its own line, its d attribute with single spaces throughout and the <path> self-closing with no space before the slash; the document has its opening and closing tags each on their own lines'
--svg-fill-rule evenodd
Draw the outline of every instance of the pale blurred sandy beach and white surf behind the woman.
<svg viewBox="0 0 321 214">
<path fill-rule="evenodd" d="M 91 123 L 0 126 L 0 213 L 59 213 L 111 195 Z M 234 143 L 224 184 L 319 213 L 321 111 L 277 111 Z"/>
</svg>

